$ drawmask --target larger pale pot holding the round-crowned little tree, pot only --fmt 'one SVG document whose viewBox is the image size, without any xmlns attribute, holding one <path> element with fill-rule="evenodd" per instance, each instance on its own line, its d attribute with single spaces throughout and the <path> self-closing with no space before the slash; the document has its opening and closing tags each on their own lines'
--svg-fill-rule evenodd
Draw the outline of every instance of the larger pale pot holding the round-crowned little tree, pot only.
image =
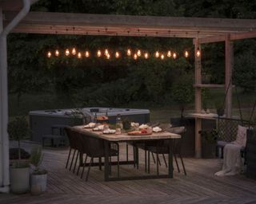
<svg viewBox="0 0 256 204">
<path fill-rule="evenodd" d="M 10 167 L 10 190 L 15 194 L 24 194 L 30 190 L 29 167 Z"/>
</svg>

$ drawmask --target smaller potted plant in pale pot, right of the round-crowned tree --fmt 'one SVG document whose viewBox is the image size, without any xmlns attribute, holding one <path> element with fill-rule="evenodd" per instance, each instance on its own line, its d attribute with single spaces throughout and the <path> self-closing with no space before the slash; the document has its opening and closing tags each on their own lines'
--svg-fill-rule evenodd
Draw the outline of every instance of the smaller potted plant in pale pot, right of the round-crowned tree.
<svg viewBox="0 0 256 204">
<path fill-rule="evenodd" d="M 30 192 L 34 195 L 42 194 L 42 192 L 46 191 L 47 171 L 40 169 L 42 158 L 41 148 L 34 148 L 31 151 L 30 164 L 32 173 L 30 175 Z"/>
</svg>

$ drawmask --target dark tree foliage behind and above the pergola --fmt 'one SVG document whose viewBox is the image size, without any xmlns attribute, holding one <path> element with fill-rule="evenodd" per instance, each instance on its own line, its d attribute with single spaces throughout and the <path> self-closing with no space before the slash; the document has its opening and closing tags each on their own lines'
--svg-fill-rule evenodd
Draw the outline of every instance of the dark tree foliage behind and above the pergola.
<svg viewBox="0 0 256 204">
<path fill-rule="evenodd" d="M 96 6 L 97 5 L 97 6 Z M 210 18 L 255 18 L 254 1 L 175 1 L 175 0 L 40 0 L 32 10 L 89 14 L 132 14 L 186 16 Z M 10 34 L 8 38 L 9 87 L 18 100 L 24 93 L 51 92 L 68 98 L 73 104 L 122 106 L 134 101 L 168 104 L 177 98 L 178 79 L 191 77 L 193 84 L 194 59 L 192 41 L 158 37 L 98 37 Z M 94 52 L 101 48 L 121 50 L 119 60 L 106 61 L 94 56 L 78 60 L 75 57 L 46 58 L 49 49 L 63 50 L 75 46 Z M 189 59 L 131 60 L 124 57 L 128 47 L 150 53 L 172 49 L 182 53 L 190 49 Z M 234 82 L 246 91 L 255 89 L 255 40 L 234 43 Z M 224 80 L 224 45 L 215 43 L 202 47 L 202 78 L 206 83 L 222 84 Z M 175 88 L 176 87 L 176 88 Z M 188 91 L 188 90 L 187 90 Z M 176 92 L 176 93 L 175 93 Z M 176 98 L 175 98 L 176 97 Z M 183 96 L 183 100 L 185 100 Z M 190 103 L 186 96 L 183 104 Z"/>
</svg>

